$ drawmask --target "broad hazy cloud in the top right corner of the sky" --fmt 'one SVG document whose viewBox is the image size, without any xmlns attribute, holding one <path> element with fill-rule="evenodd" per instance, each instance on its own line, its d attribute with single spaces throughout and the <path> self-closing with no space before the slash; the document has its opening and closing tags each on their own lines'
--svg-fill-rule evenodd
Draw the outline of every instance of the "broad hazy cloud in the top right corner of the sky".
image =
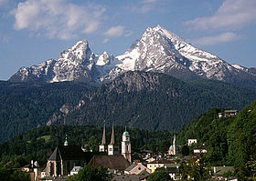
<svg viewBox="0 0 256 181">
<path fill-rule="evenodd" d="M 225 0 L 214 15 L 198 17 L 185 24 L 194 29 L 240 29 L 256 22 L 255 0 Z"/>
</svg>

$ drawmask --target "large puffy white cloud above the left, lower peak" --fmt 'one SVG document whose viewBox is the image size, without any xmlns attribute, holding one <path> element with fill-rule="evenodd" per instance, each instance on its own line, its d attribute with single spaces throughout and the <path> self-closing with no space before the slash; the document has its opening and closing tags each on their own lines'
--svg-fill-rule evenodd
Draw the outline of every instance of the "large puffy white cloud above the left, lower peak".
<svg viewBox="0 0 256 181">
<path fill-rule="evenodd" d="M 95 32 L 105 8 L 101 5 L 74 5 L 66 0 L 27 0 L 11 12 L 16 30 L 28 29 L 50 38 L 69 39 Z"/>
</svg>

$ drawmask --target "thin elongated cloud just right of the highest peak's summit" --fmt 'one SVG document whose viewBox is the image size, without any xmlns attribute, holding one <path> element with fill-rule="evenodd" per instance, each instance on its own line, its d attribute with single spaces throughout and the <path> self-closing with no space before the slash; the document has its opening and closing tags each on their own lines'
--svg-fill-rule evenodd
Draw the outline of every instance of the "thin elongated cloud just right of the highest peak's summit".
<svg viewBox="0 0 256 181">
<path fill-rule="evenodd" d="M 240 39 L 240 35 L 236 35 L 232 32 L 226 32 L 220 35 L 212 35 L 192 40 L 196 45 L 217 45 L 220 43 L 226 43 Z"/>
</svg>

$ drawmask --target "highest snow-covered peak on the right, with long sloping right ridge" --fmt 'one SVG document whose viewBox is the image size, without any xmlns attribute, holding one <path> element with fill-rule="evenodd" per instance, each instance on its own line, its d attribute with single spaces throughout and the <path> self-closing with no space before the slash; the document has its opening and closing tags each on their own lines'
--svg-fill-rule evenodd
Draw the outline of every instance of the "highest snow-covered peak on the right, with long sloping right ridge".
<svg viewBox="0 0 256 181">
<path fill-rule="evenodd" d="M 255 72 L 240 65 L 229 65 L 160 25 L 147 28 L 142 38 L 117 58 L 123 61 L 118 67 L 126 71 L 155 71 L 190 80 L 202 77 L 256 88 Z"/>
</svg>

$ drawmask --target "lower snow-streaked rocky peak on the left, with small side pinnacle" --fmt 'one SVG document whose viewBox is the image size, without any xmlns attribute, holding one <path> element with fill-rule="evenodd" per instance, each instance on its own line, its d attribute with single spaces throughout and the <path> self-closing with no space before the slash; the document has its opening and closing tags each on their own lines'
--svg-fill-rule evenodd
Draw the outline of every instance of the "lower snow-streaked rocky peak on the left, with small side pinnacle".
<svg viewBox="0 0 256 181">
<path fill-rule="evenodd" d="M 104 52 L 95 55 L 91 52 L 87 40 L 81 40 L 59 55 L 59 59 L 50 59 L 39 65 L 21 67 L 11 76 L 11 82 L 95 82 L 108 74 L 113 56 Z"/>
</svg>

